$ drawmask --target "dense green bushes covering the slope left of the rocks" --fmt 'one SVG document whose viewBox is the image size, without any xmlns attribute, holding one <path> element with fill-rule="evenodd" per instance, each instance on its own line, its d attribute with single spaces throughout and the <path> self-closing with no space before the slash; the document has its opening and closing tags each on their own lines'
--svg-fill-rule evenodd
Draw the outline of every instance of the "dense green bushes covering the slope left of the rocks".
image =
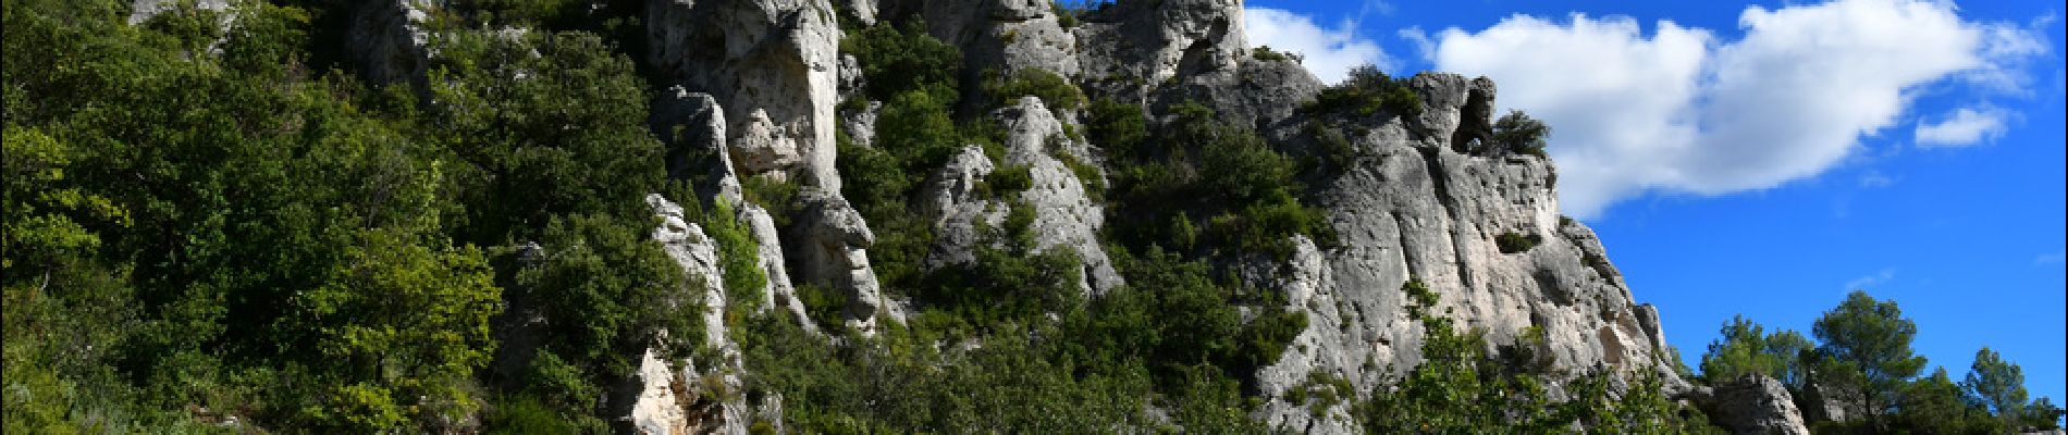
<svg viewBox="0 0 2068 435">
<path fill-rule="evenodd" d="M 124 10 L 6 4 L 10 433 L 469 431 L 490 396 L 583 421 L 687 328 L 647 91 L 600 37 L 453 31 L 424 103 L 310 72 L 343 10 Z M 492 375 L 507 305 L 548 330 Z"/>
</svg>

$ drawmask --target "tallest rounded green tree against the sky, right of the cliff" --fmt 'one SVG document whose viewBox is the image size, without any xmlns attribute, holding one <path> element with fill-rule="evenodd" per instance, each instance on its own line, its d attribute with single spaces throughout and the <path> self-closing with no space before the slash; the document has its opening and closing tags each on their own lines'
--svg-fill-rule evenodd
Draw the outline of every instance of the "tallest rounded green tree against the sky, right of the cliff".
<svg viewBox="0 0 2068 435">
<path fill-rule="evenodd" d="M 1911 350 L 1917 322 L 1903 317 L 1894 301 L 1876 301 L 1865 291 L 1853 291 L 1838 307 L 1824 311 L 1812 332 L 1824 342 L 1818 353 L 1834 363 L 1832 371 L 1838 371 L 1828 373 L 1830 379 L 1857 379 L 1834 388 L 1857 392 L 1865 423 L 1882 429 L 1882 419 L 1894 410 L 1903 386 L 1925 367 L 1925 357 Z M 1824 377 L 1816 381 L 1828 386 Z"/>
</svg>

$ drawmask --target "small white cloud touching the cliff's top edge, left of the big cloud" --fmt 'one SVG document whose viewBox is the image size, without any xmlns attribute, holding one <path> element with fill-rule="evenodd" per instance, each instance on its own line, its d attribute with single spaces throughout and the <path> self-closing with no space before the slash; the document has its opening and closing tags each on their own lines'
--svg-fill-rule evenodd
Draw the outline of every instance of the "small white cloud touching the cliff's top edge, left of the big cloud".
<svg viewBox="0 0 2068 435">
<path fill-rule="evenodd" d="M 1369 4 L 1367 10 L 1371 8 Z M 1379 6 L 1383 4 L 1379 2 Z M 1355 21 L 1326 29 L 1305 14 L 1278 8 L 1243 8 L 1243 37 L 1249 39 L 1249 45 L 1299 54 L 1303 58 L 1301 64 L 1315 78 L 1321 78 L 1321 82 L 1338 82 L 1350 68 L 1361 64 L 1392 70 L 1392 58 L 1379 49 L 1377 41 L 1359 37 Z"/>
</svg>

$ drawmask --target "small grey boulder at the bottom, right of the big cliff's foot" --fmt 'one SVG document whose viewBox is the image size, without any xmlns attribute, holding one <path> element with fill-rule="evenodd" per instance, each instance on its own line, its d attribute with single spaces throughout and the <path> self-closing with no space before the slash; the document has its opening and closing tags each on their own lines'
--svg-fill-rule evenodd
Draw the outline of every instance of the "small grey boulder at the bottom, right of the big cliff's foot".
<svg viewBox="0 0 2068 435">
<path fill-rule="evenodd" d="M 1743 375 L 1721 386 L 1696 402 L 1716 423 L 1731 433 L 1745 435 L 1807 435 L 1803 414 L 1795 410 L 1795 398 L 1774 377 Z"/>
</svg>

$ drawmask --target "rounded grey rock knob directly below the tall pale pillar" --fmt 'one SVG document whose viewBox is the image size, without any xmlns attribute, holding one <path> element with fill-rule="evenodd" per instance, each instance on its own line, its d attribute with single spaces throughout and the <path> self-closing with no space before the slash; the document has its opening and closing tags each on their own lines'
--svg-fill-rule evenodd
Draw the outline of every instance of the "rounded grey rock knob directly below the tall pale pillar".
<svg viewBox="0 0 2068 435">
<path fill-rule="evenodd" d="M 817 188 L 798 192 L 796 223 L 790 225 L 792 241 L 786 245 L 792 272 L 807 285 L 819 285 L 848 293 L 848 326 L 862 334 L 875 334 L 879 315 L 904 322 L 904 311 L 883 297 L 875 268 L 864 252 L 877 241 L 862 214 L 848 200 Z M 794 299 L 794 297 L 792 297 Z"/>
</svg>

